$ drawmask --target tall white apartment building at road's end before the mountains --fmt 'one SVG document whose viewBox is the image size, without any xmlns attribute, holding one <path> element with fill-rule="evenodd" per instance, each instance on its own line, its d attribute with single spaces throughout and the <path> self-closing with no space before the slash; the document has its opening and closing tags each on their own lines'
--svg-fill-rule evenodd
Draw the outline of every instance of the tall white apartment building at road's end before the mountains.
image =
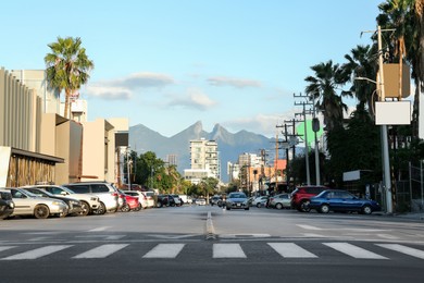
<svg viewBox="0 0 424 283">
<path fill-rule="evenodd" d="M 202 177 L 221 179 L 220 152 L 215 140 L 205 138 L 190 140 L 191 169 L 184 170 L 186 180 L 197 184 Z"/>
</svg>

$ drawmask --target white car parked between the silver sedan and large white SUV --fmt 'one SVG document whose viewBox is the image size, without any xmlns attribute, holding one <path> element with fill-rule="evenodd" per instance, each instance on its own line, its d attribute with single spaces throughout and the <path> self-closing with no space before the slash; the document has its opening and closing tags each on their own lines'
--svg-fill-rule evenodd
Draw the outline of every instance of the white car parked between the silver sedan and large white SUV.
<svg viewBox="0 0 424 283">
<path fill-rule="evenodd" d="M 59 185 L 35 185 L 39 189 L 43 189 L 52 195 L 78 199 L 82 202 L 80 216 L 87 216 L 96 212 L 100 208 L 99 197 L 92 194 L 77 194 L 74 190 Z"/>
</svg>

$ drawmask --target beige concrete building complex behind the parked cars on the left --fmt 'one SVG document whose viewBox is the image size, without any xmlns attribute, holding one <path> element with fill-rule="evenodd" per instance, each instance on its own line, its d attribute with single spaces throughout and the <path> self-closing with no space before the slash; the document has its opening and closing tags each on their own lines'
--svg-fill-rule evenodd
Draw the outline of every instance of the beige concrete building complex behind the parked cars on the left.
<svg viewBox="0 0 424 283">
<path fill-rule="evenodd" d="M 87 122 L 87 104 L 78 106 L 71 108 L 77 121 L 65 119 L 45 71 L 0 69 L 0 186 L 116 182 L 116 139 L 127 146 L 127 119 Z"/>
</svg>

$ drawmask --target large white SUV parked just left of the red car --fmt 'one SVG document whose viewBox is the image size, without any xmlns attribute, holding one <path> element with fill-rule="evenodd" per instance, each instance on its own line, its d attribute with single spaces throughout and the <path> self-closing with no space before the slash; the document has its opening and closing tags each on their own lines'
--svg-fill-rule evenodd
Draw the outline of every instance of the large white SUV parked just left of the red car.
<svg viewBox="0 0 424 283">
<path fill-rule="evenodd" d="M 73 192 L 77 194 L 93 194 L 100 199 L 100 207 L 96 210 L 96 213 L 103 214 L 107 211 L 116 212 L 122 202 L 120 199 L 120 193 L 117 188 L 113 186 L 113 184 L 108 182 L 78 182 L 72 184 L 63 185 L 67 188 L 71 188 Z"/>
</svg>

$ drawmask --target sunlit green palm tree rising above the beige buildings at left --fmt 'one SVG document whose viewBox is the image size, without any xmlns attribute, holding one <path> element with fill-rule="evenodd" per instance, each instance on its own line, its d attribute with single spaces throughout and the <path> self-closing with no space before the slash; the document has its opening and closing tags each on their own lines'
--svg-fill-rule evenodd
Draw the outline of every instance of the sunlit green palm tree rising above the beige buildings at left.
<svg viewBox="0 0 424 283">
<path fill-rule="evenodd" d="M 48 86 L 59 93 L 65 90 L 64 116 L 68 118 L 71 95 L 87 83 L 95 64 L 88 59 L 79 37 L 58 37 L 57 42 L 48 46 L 52 51 L 45 57 Z"/>
</svg>

